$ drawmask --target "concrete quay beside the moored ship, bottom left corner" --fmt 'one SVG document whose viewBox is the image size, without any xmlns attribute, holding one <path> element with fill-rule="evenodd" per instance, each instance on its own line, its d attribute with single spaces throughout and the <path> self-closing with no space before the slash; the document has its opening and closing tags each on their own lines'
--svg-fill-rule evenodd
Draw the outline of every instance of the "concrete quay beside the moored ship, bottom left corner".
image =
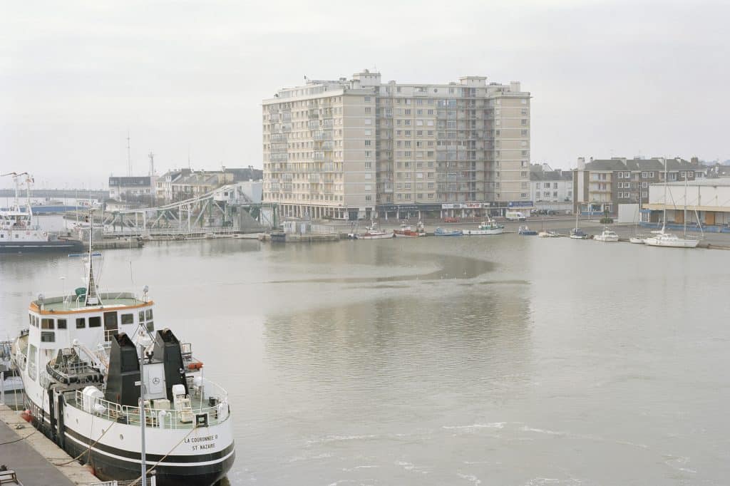
<svg viewBox="0 0 730 486">
<path fill-rule="evenodd" d="M 4 404 L 0 404 L 0 464 L 15 471 L 18 481 L 26 486 L 99 482 L 87 468 L 71 460 L 66 452 Z"/>
</svg>

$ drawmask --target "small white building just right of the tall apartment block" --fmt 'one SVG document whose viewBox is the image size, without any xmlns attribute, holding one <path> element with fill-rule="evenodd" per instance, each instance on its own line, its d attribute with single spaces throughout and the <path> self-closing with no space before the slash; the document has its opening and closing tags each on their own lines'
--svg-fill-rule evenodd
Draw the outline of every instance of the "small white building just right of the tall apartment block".
<svg viewBox="0 0 730 486">
<path fill-rule="evenodd" d="M 535 209 L 573 210 L 573 173 L 547 163 L 530 166 L 531 199 Z"/>
</svg>

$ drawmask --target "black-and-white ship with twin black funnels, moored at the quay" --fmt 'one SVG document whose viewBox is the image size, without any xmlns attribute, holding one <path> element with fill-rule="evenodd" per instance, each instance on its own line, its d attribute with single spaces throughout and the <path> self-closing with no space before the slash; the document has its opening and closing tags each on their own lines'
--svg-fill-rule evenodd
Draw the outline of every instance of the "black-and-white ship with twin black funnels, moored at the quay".
<svg viewBox="0 0 730 486">
<path fill-rule="evenodd" d="M 235 458 L 226 390 L 203 377 L 191 344 L 155 325 L 147 288 L 99 293 L 88 258 L 85 288 L 38 296 L 13 344 L 26 414 L 100 479 L 137 479 L 145 458 L 158 485 L 212 485 Z"/>
</svg>

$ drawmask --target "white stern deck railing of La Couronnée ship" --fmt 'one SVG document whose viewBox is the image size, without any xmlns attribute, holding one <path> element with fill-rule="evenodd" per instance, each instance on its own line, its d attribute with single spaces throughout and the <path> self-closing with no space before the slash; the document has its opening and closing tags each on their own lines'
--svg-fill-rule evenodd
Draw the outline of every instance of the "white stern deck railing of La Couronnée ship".
<svg viewBox="0 0 730 486">
<path fill-rule="evenodd" d="M 216 385 L 209 379 L 202 379 L 202 386 L 193 385 L 190 388 L 189 403 L 182 409 L 158 408 L 155 401 L 145 406 L 145 424 L 150 428 L 190 429 L 218 425 L 228 420 L 228 394 L 223 387 Z M 103 398 L 85 396 L 81 390 L 76 390 L 69 399 L 69 405 L 81 409 L 96 417 L 112 422 L 128 425 L 140 425 L 139 406 L 117 404 Z M 171 404 L 171 406 L 174 406 Z"/>
</svg>

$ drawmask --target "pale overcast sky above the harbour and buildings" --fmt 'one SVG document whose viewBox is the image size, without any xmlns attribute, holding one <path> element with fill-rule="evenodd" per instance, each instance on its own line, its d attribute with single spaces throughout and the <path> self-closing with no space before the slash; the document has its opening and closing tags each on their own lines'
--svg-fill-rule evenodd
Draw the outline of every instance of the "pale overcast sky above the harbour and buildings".
<svg viewBox="0 0 730 486">
<path fill-rule="evenodd" d="M 0 7 L 0 171 L 100 188 L 261 167 L 261 100 L 377 66 L 532 93 L 532 161 L 730 158 L 728 1 L 16 1 Z M 9 187 L 7 178 L 0 187 Z"/>
</svg>

